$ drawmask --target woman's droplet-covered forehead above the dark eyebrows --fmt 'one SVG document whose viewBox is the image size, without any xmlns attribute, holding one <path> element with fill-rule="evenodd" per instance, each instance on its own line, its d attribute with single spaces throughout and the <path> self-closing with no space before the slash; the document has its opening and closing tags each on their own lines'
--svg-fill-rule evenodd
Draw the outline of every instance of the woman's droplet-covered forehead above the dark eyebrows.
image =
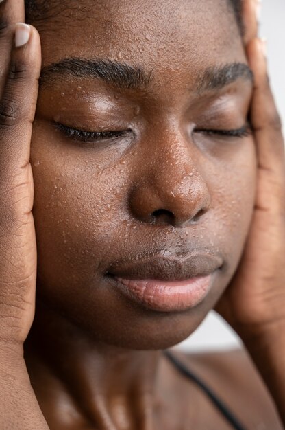
<svg viewBox="0 0 285 430">
<path fill-rule="evenodd" d="M 227 0 L 61 1 L 49 5 L 47 16 L 34 25 L 40 31 L 44 66 L 82 56 L 177 71 L 243 56 Z"/>
</svg>

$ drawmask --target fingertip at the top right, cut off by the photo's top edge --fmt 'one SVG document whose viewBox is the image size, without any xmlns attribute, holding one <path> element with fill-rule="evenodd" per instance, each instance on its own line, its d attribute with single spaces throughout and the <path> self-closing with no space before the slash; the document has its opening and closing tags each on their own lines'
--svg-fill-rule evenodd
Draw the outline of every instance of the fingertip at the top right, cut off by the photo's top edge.
<svg viewBox="0 0 285 430">
<path fill-rule="evenodd" d="M 245 46 L 258 35 L 258 15 L 260 6 L 260 0 L 243 0 L 242 13 L 245 28 L 243 42 Z"/>
</svg>

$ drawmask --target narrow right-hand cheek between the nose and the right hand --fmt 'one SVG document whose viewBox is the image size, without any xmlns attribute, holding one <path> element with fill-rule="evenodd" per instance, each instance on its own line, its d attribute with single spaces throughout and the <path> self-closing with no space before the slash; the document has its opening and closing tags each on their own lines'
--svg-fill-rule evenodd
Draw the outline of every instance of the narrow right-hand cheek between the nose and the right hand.
<svg viewBox="0 0 285 430">
<path fill-rule="evenodd" d="M 256 152 L 245 139 L 240 152 L 212 175 L 214 242 L 219 242 L 231 273 L 240 260 L 249 231 L 256 193 Z"/>
</svg>

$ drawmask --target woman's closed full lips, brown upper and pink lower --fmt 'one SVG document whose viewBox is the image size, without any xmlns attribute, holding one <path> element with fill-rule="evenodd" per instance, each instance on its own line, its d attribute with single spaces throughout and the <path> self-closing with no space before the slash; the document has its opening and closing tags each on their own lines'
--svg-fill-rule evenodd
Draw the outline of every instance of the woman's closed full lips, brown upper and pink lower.
<svg viewBox="0 0 285 430">
<path fill-rule="evenodd" d="M 110 268 L 114 286 L 125 297 L 160 312 L 179 312 L 206 298 L 221 268 L 221 258 L 209 254 L 187 257 L 153 256 L 121 262 Z"/>
</svg>

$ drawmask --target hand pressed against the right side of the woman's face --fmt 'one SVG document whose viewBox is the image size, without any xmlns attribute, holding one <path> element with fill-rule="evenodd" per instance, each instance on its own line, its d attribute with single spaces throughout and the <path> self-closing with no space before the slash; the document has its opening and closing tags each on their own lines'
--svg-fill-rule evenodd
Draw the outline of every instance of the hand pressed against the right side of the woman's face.
<svg viewBox="0 0 285 430">
<path fill-rule="evenodd" d="M 252 2 L 247 13 L 252 13 Z M 282 126 L 267 77 L 262 41 L 245 18 L 247 55 L 254 73 L 251 124 L 258 159 L 256 203 L 236 275 L 216 310 L 243 338 L 285 327 L 285 158 Z M 251 36 L 249 36 L 251 34 Z"/>
</svg>

